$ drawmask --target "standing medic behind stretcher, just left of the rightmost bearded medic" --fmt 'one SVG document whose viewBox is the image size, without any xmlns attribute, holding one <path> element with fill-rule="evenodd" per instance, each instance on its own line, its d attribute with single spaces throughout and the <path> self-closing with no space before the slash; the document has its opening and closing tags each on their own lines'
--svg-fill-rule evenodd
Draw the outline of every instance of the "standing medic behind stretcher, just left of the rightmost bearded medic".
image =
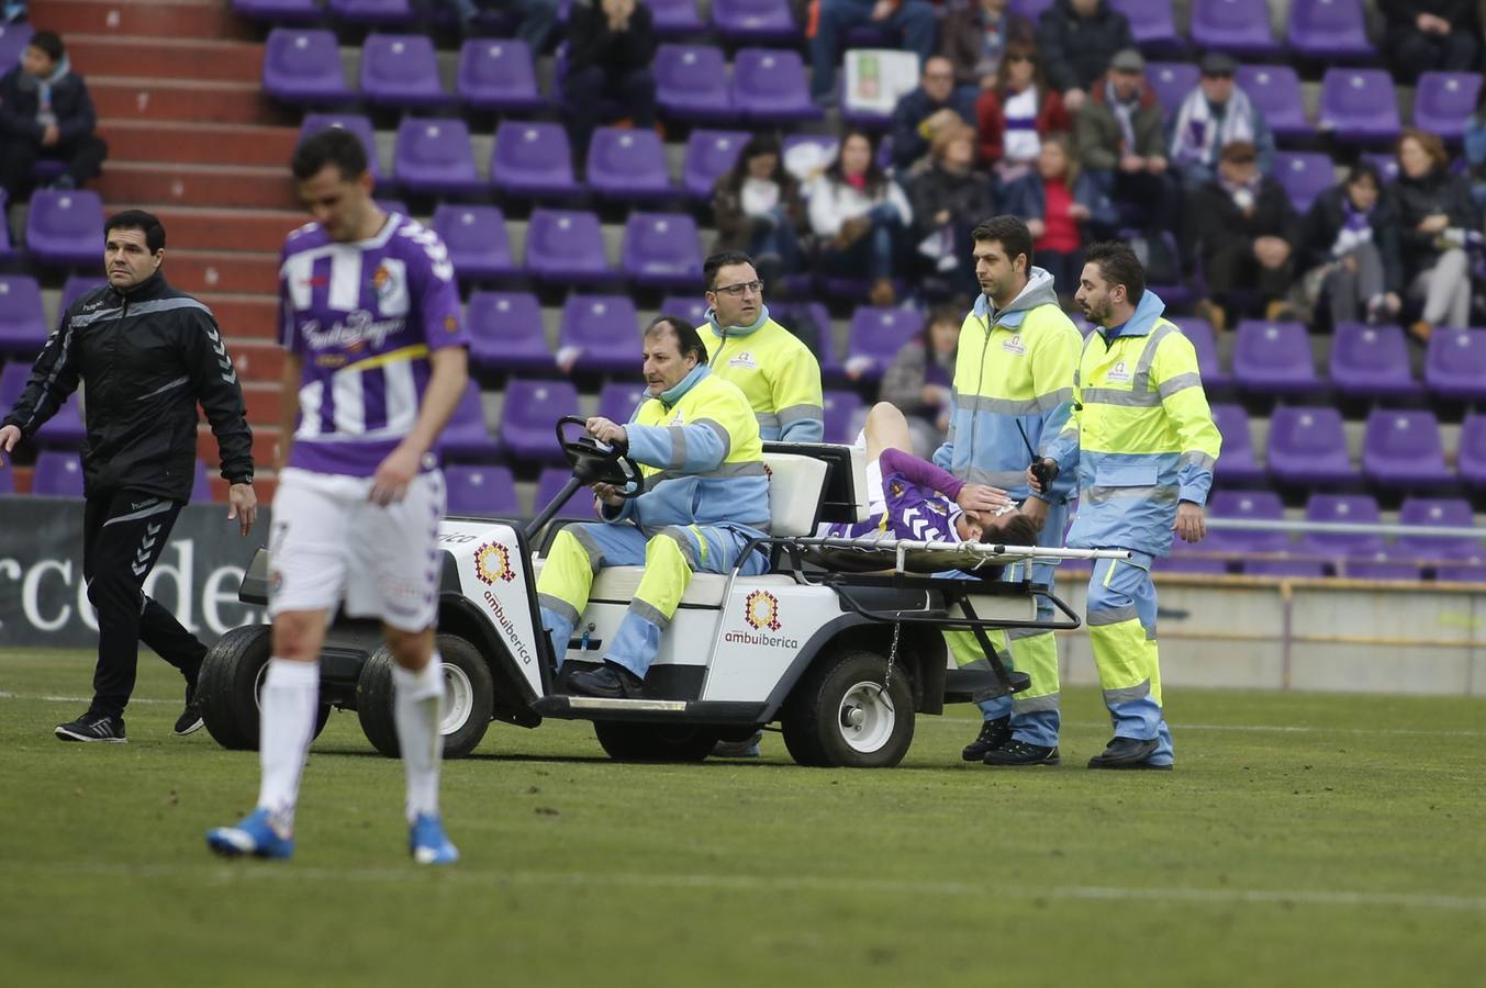
<svg viewBox="0 0 1486 988">
<path fill-rule="evenodd" d="M 994 224 L 994 221 L 993 221 Z M 1025 227 L 1021 227 L 1025 235 Z M 1025 235 L 1030 245 L 1030 235 Z M 994 247 L 987 248 L 985 244 Z M 985 250 L 1002 251 L 999 241 L 976 242 L 976 259 Z M 1005 250 L 1006 256 L 1012 250 Z M 951 389 L 950 435 L 933 462 L 967 483 L 1002 487 L 1012 499 L 1028 496 L 1046 502 L 1046 517 L 1039 545 L 1061 547 L 1067 523 L 1071 480 L 1052 484 L 1043 495 L 1033 495 L 1025 469 L 1031 449 L 1046 455 L 1062 431 L 1073 407 L 1073 370 L 1079 358 L 1079 331 L 1054 291 L 1052 275 L 1027 266 L 1028 254 L 997 256 L 1008 267 L 1006 294 L 1013 294 L 1000 309 L 993 309 L 985 294 L 960 328 Z M 978 267 L 979 272 L 979 267 Z M 1016 285 L 1021 285 L 1019 291 Z M 1033 579 L 1052 587 L 1054 563 L 1008 566 L 1005 578 Z M 1052 605 L 1037 599 L 1037 617 L 1052 618 Z M 982 701 L 981 737 L 964 749 L 964 758 L 987 764 L 1057 764 L 1058 732 L 1058 646 L 1052 631 L 1018 628 L 990 633 L 993 645 L 1009 652 L 1010 664 L 1031 677 L 1031 686 L 1013 698 Z M 1008 640 L 1009 639 L 1009 640 Z M 984 664 L 981 648 L 969 631 L 947 631 L 950 652 L 960 666 Z M 1009 735 L 1008 735 L 1009 731 Z M 999 761 L 993 749 L 1006 747 L 1012 761 Z M 1031 747 L 1028 747 L 1031 746 Z"/>
</svg>

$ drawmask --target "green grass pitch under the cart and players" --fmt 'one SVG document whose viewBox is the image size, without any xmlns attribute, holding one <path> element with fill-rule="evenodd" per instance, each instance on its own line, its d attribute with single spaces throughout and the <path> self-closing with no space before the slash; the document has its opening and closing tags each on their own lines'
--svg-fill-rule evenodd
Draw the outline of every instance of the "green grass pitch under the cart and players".
<svg viewBox="0 0 1486 988">
<path fill-rule="evenodd" d="M 1177 771 L 960 762 L 969 707 L 889 771 L 609 762 L 585 724 L 492 725 L 444 767 L 453 869 L 406 856 L 401 768 L 354 713 L 315 743 L 290 863 L 223 862 L 257 756 L 53 740 L 92 657 L 0 651 L 0 984 L 1486 984 L 1486 703 L 1171 689 Z"/>
</svg>

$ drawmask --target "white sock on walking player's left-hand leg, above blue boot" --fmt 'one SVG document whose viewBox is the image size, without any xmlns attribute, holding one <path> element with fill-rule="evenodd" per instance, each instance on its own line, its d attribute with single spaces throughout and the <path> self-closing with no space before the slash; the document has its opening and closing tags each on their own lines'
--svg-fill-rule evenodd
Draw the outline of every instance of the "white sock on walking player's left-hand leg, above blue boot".
<svg viewBox="0 0 1486 988">
<path fill-rule="evenodd" d="M 294 828 L 299 774 L 315 734 L 319 663 L 270 658 L 259 703 L 259 764 L 263 767 L 259 805 L 288 833 Z"/>
</svg>

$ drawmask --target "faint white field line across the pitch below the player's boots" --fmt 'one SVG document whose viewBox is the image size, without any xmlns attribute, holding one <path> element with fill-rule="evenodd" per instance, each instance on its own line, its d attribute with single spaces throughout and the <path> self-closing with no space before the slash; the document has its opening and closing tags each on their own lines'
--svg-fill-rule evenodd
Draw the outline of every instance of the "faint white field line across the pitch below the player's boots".
<svg viewBox="0 0 1486 988">
<path fill-rule="evenodd" d="M 202 872 L 208 871 L 208 875 Z M 189 863 L 110 865 L 106 862 L 0 862 L 0 874 L 70 874 L 100 878 L 208 878 L 221 884 L 232 881 L 349 881 L 364 884 L 418 881 L 418 871 L 409 868 L 302 868 L 293 863 L 242 862 L 214 866 Z M 435 881 L 471 885 L 572 885 L 591 888 L 609 885 L 624 888 L 725 890 L 725 891 L 829 891 L 846 894 L 909 894 L 944 899 L 984 899 L 982 883 L 903 881 L 883 878 L 846 878 L 814 875 L 724 875 L 724 874 L 640 874 L 640 872 L 547 872 L 474 869 L 459 866 L 438 872 Z M 1021 900 L 1094 900 L 1094 902 L 1177 902 L 1213 906 L 1233 905 L 1305 905 L 1342 908 L 1437 909 L 1444 912 L 1486 912 L 1486 896 L 1453 896 L 1406 891 L 1360 891 L 1342 888 L 1192 888 L 1192 887 L 1116 887 L 1116 885 L 1052 885 L 1049 888 L 1008 887 L 996 893 L 1002 899 Z"/>
</svg>

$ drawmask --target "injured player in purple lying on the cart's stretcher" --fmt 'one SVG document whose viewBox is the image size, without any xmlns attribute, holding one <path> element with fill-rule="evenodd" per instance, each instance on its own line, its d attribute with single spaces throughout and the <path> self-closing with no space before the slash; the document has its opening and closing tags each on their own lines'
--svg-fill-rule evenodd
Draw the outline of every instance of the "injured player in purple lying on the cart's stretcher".
<svg viewBox="0 0 1486 988">
<path fill-rule="evenodd" d="M 880 401 L 857 437 L 866 446 L 865 521 L 822 526 L 831 538 L 1033 545 L 1036 523 L 1000 487 L 970 484 L 914 456 L 908 419 Z"/>
</svg>

